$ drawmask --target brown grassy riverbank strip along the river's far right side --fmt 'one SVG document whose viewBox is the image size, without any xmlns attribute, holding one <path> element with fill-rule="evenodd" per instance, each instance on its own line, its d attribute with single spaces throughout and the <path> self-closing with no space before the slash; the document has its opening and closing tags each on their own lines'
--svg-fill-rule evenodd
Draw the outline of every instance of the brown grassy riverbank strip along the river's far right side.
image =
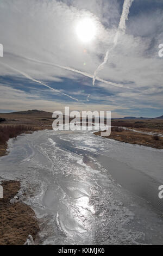
<svg viewBox="0 0 163 256">
<path fill-rule="evenodd" d="M 94 132 L 95 135 L 101 136 L 101 131 Z M 115 141 L 126 142 L 130 144 L 143 145 L 156 149 L 163 149 L 163 138 L 159 136 L 147 135 L 129 130 L 120 129 L 120 131 L 111 131 L 110 136 L 104 138 L 115 139 Z"/>
</svg>

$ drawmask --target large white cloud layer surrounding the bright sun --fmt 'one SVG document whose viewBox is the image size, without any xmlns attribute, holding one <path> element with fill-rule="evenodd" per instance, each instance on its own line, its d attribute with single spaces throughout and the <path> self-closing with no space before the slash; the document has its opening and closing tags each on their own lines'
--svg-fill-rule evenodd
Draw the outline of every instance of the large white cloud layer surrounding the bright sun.
<svg viewBox="0 0 163 256">
<path fill-rule="evenodd" d="M 65 77 L 78 80 L 85 73 L 91 77 L 108 46 L 113 43 L 121 11 L 115 0 L 1 0 L 0 35 L 4 46 L 1 62 L 39 81 L 62 82 Z M 97 26 L 96 39 L 89 44 L 79 41 L 75 29 L 78 20 L 85 16 L 91 17 Z M 115 94 L 108 98 L 106 95 L 112 104 L 119 107 L 121 102 L 122 108 L 124 105 L 129 108 L 132 102 L 139 102 L 161 108 L 163 58 L 158 57 L 158 45 L 163 42 L 162 17 L 161 10 L 129 17 L 127 33 L 121 35 L 108 64 L 98 74 L 101 82 L 96 84 L 104 92 Z M 18 56 L 66 66 L 83 73 L 31 62 Z M 1 63 L 0 75 L 18 76 Z M 117 89 L 111 83 L 102 83 L 102 80 L 124 84 L 124 88 Z M 131 88 L 131 92 L 126 87 Z M 85 93 L 84 96 L 87 95 Z M 92 88 L 89 100 L 101 98 L 102 95 L 93 94 Z M 14 104 L 12 97 L 10 100 Z"/>
</svg>

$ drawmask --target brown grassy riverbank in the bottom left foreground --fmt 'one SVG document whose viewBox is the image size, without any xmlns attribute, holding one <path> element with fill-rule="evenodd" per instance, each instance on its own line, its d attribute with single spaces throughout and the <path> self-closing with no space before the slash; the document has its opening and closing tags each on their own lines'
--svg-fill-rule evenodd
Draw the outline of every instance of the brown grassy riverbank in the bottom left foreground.
<svg viewBox="0 0 163 256">
<path fill-rule="evenodd" d="M 0 199 L 0 245 L 24 245 L 28 235 L 35 240 L 39 223 L 35 212 L 16 196 L 21 188 L 20 181 L 3 181 L 3 199 Z"/>
</svg>

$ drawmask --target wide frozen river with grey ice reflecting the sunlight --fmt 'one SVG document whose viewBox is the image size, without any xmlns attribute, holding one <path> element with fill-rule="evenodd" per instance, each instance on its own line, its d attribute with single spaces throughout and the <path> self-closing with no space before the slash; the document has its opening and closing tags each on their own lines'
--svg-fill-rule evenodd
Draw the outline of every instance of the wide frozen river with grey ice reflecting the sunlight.
<svg viewBox="0 0 163 256">
<path fill-rule="evenodd" d="M 70 131 L 18 136 L 9 150 L 0 176 L 22 181 L 41 244 L 163 244 L 163 150 Z"/>
</svg>

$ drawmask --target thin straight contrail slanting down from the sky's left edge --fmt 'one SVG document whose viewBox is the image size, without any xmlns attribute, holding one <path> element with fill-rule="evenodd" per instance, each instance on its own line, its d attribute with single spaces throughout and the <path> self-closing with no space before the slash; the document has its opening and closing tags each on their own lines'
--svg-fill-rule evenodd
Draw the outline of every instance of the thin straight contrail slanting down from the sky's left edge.
<svg viewBox="0 0 163 256">
<path fill-rule="evenodd" d="M 70 97 L 70 99 L 72 99 L 72 100 L 79 101 L 78 99 L 76 99 L 76 98 L 74 98 L 74 97 L 72 97 L 72 96 L 70 96 L 70 95 L 68 95 L 68 94 L 66 94 L 66 93 L 60 92 L 60 90 L 54 89 L 54 88 L 48 86 L 47 84 L 45 84 L 45 83 L 43 83 L 43 82 L 41 82 L 41 81 L 39 81 L 39 80 L 36 80 L 36 79 L 32 78 L 31 76 L 27 75 L 27 74 L 24 73 L 23 71 L 20 71 L 20 70 L 18 70 L 18 69 L 15 69 L 15 68 L 13 68 L 12 66 L 9 66 L 9 65 L 4 64 L 4 63 L 1 63 L 1 64 L 4 65 L 4 66 L 7 66 L 9 69 L 12 69 L 12 70 L 14 70 L 14 71 L 20 73 L 21 75 L 27 77 L 29 80 L 32 80 L 32 81 L 34 81 L 34 82 L 36 82 L 36 83 L 40 83 L 42 86 L 45 86 L 45 87 L 47 87 L 47 88 L 53 90 L 54 92 L 57 92 L 57 93 L 60 93 L 60 94 L 62 94 L 62 95 L 65 95 L 65 96 L 67 96 L 67 97 Z"/>
</svg>

